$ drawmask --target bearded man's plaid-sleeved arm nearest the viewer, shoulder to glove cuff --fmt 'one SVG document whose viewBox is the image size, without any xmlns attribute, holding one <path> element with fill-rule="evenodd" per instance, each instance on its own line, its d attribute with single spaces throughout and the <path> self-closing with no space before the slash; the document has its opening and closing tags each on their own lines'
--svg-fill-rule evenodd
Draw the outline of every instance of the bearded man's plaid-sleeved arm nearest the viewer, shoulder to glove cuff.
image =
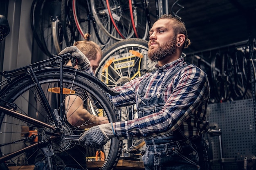
<svg viewBox="0 0 256 170">
<path fill-rule="evenodd" d="M 113 124 L 115 136 L 119 139 L 148 137 L 153 134 L 175 131 L 191 115 L 195 115 L 196 125 L 209 126 L 205 121 L 209 101 L 209 83 L 207 75 L 196 67 L 185 68 L 179 77 L 175 77 L 173 91 L 166 104 L 159 111 L 139 119 L 116 122 Z M 198 110 L 198 107 L 201 109 Z M 193 123 L 193 122 L 191 122 Z M 201 127 L 202 128 L 202 127 Z"/>
</svg>

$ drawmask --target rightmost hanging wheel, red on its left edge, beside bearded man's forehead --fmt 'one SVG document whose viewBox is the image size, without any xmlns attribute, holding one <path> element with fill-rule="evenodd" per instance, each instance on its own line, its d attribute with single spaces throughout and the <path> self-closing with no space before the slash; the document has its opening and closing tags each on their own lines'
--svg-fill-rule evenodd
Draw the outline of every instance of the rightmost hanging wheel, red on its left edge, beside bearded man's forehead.
<svg viewBox="0 0 256 170">
<path fill-rule="evenodd" d="M 148 38 L 148 31 L 151 27 L 147 3 L 147 0 L 129 0 L 131 23 L 135 37 L 143 40 Z"/>
</svg>

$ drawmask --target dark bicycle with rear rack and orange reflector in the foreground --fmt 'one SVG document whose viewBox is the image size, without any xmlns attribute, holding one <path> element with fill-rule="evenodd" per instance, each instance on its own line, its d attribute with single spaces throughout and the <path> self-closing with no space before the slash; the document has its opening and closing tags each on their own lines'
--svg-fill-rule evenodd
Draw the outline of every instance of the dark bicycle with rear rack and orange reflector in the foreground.
<svg viewBox="0 0 256 170">
<path fill-rule="evenodd" d="M 78 87 L 87 94 L 87 99 L 90 101 L 88 104 L 90 113 L 94 113 L 95 116 L 105 116 L 110 122 L 119 120 L 117 110 L 107 95 L 107 93 L 111 95 L 117 93 L 96 77 L 63 66 L 65 61 L 70 59 L 72 60 L 70 54 L 65 54 L 0 73 L 5 78 L 1 82 L 2 89 L 0 91 L 1 170 L 9 170 L 9 166 L 17 166 L 19 157 L 25 157 L 26 152 L 38 149 L 47 153 L 45 154 L 46 160 L 49 160 L 47 165 L 52 167 L 51 159 L 54 152 L 65 152 L 68 148 L 78 144 L 80 135 L 74 135 L 74 132 L 78 130 L 79 126 L 70 127 L 67 124 L 63 106 L 65 99 L 73 93 L 73 87 Z M 50 100 L 45 96 L 42 89 L 45 84 L 49 87 L 51 84 L 58 84 L 57 87 L 52 86 L 48 89 L 49 92 L 58 95 L 58 108 L 52 108 Z M 66 85 L 72 88 L 66 88 Z M 40 101 L 39 104 L 47 111 L 49 119 L 47 123 L 37 119 L 40 111 L 36 110 L 35 99 Z M 85 124 L 87 123 L 85 122 Z M 38 135 L 42 140 L 36 141 L 37 135 L 34 134 L 26 136 L 29 130 L 22 131 L 22 127 L 28 127 L 33 131 L 41 130 Z M 25 137 L 22 137 L 21 134 Z M 121 141 L 113 138 L 101 150 L 105 153 L 103 166 L 97 167 L 96 164 L 95 166 L 101 170 L 113 169 L 120 156 Z M 34 155 L 31 154 L 20 167 L 27 165 L 33 158 Z"/>
</svg>

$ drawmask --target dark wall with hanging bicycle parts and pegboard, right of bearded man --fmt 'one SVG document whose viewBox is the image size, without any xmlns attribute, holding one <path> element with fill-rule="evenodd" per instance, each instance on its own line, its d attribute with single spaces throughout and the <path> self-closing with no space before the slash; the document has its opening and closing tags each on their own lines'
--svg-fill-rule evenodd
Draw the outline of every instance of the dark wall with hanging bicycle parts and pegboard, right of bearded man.
<svg viewBox="0 0 256 170">
<path fill-rule="evenodd" d="M 208 75 L 209 159 L 212 170 L 256 169 L 255 41 L 187 53 Z"/>
</svg>

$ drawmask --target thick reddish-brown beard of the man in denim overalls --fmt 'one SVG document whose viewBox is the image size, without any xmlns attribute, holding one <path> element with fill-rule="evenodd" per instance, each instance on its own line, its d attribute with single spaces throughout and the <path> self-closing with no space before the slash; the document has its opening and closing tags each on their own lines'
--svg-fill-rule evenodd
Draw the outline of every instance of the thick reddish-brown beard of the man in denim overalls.
<svg viewBox="0 0 256 170">
<path fill-rule="evenodd" d="M 157 43 L 157 42 L 156 42 Z M 176 46 L 176 38 L 173 37 L 172 40 L 165 42 L 162 45 L 158 44 L 157 49 L 149 49 L 148 50 L 148 57 L 151 61 L 157 62 L 165 59 L 167 56 L 173 55 L 175 53 L 175 46 Z"/>
</svg>

